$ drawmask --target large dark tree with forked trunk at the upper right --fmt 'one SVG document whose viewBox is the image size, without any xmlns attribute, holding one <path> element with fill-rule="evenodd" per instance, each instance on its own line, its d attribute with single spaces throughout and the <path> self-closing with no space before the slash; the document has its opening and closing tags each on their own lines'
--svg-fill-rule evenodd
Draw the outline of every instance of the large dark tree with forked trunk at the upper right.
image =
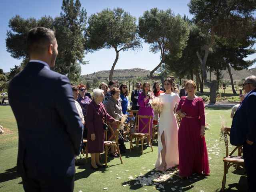
<svg viewBox="0 0 256 192">
<path fill-rule="evenodd" d="M 210 40 L 204 45 L 204 56 L 196 54 L 203 70 L 204 83 L 210 88 L 210 103 L 216 102 L 217 82 L 207 80 L 206 61 L 209 49 L 218 37 L 222 44 L 232 42 L 238 47 L 246 39 L 255 38 L 256 22 L 252 16 L 256 10 L 254 0 L 191 0 L 188 4 L 193 21 L 205 34 L 210 34 Z"/>
</svg>

